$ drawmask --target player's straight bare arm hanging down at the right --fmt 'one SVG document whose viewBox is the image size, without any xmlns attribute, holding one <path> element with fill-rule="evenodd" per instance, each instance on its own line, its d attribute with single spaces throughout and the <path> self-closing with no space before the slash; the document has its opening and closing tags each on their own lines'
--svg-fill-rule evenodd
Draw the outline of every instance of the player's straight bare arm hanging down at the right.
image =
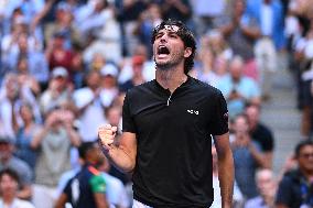
<svg viewBox="0 0 313 208">
<path fill-rule="evenodd" d="M 218 156 L 218 179 L 220 186 L 222 208 L 230 208 L 234 189 L 234 158 L 229 145 L 229 134 L 215 135 L 214 139 Z"/>
</svg>

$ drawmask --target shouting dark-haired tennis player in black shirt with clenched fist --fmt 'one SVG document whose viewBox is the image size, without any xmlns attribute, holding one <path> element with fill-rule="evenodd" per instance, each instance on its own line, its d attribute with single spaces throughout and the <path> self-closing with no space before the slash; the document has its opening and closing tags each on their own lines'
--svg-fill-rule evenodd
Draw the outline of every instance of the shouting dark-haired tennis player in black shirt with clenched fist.
<svg viewBox="0 0 313 208">
<path fill-rule="evenodd" d="M 204 208 L 214 200 L 213 138 L 222 208 L 230 208 L 235 171 L 226 100 L 188 75 L 196 41 L 182 22 L 162 22 L 151 42 L 155 79 L 127 91 L 119 144 L 117 127 L 98 129 L 102 153 L 132 174 L 134 208 Z"/>
</svg>

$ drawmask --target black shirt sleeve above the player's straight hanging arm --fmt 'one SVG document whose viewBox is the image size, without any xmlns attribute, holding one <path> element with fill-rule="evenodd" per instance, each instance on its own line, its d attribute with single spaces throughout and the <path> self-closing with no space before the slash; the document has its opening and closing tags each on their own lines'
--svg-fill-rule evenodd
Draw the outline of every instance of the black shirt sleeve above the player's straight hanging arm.
<svg viewBox="0 0 313 208">
<path fill-rule="evenodd" d="M 213 135 L 222 135 L 228 132 L 227 103 L 219 90 L 212 113 L 211 132 Z"/>
</svg>

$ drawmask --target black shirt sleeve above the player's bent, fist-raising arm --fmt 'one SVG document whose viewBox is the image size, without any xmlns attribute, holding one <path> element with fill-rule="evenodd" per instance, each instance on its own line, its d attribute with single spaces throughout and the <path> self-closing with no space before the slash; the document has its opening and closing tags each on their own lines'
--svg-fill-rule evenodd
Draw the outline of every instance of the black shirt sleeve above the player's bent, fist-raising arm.
<svg viewBox="0 0 313 208">
<path fill-rule="evenodd" d="M 133 118 L 130 112 L 129 94 L 126 95 L 122 105 L 122 131 L 136 133 Z"/>
</svg>

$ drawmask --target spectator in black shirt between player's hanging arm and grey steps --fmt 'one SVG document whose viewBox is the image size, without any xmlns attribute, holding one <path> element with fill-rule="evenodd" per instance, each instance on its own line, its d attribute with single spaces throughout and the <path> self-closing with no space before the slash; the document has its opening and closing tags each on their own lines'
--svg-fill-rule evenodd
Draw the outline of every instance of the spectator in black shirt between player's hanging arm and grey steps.
<svg viewBox="0 0 313 208">
<path fill-rule="evenodd" d="M 246 107 L 246 114 L 249 121 L 249 131 L 251 138 L 257 142 L 261 151 L 266 156 L 266 162 L 268 163 L 266 167 L 272 167 L 273 151 L 274 151 L 274 138 L 272 131 L 260 121 L 260 106 L 248 105 Z"/>
</svg>

